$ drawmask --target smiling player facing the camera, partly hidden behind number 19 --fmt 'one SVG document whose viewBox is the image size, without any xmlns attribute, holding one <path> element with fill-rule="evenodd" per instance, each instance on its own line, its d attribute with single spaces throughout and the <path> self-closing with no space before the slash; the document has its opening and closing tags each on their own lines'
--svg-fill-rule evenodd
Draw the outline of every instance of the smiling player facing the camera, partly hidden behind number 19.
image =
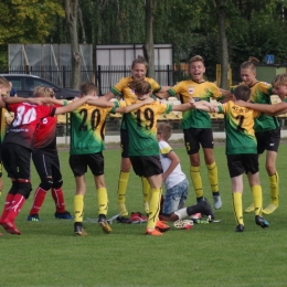
<svg viewBox="0 0 287 287">
<path fill-rule="evenodd" d="M 146 73 L 148 71 L 148 63 L 142 56 L 138 56 L 131 63 L 131 75 L 129 77 L 123 77 L 120 81 L 110 89 L 109 93 L 105 95 L 105 97 L 109 100 L 113 97 L 121 96 L 124 100 L 128 99 L 130 104 L 137 100 L 137 96 L 135 92 L 130 89 L 129 83 L 134 79 L 145 79 L 150 83 L 151 89 L 153 93 L 164 92 L 169 87 L 160 86 L 153 78 L 146 77 Z M 120 163 L 120 172 L 118 179 L 118 191 L 117 191 L 117 201 L 119 208 L 119 222 L 129 222 L 128 211 L 126 206 L 126 190 L 129 179 L 129 171 L 131 168 L 131 162 L 128 157 L 128 136 L 126 128 L 126 115 L 123 115 L 121 126 L 120 126 L 120 146 L 121 146 L 121 163 Z M 142 181 L 142 192 L 144 192 L 144 205 L 145 210 L 148 213 L 148 198 L 149 198 L 149 183 L 145 177 L 141 177 Z"/>
</svg>

